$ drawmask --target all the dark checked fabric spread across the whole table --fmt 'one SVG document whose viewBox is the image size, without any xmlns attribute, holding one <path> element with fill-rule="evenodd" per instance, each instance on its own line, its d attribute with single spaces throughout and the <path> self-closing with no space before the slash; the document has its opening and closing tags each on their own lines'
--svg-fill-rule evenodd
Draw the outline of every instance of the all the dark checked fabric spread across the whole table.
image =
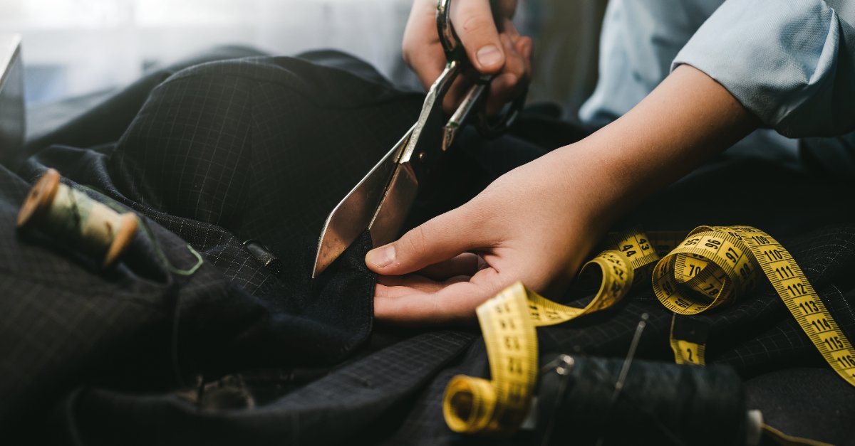
<svg viewBox="0 0 855 446">
<path fill-rule="evenodd" d="M 205 63 L 151 85 L 141 109 L 140 95 L 120 93 L 89 114 L 133 110 L 124 128 L 87 139 L 91 128 L 72 122 L 14 172 L 0 168 L 3 433 L 57 444 L 501 443 L 454 434 L 442 419 L 451 376 L 488 375 L 475 327 L 374 326 L 367 234 L 309 279 L 321 222 L 411 126 L 420 95 L 333 52 Z M 409 225 L 585 134 L 542 111 L 494 141 L 463 132 L 441 167 L 444 181 L 419 197 Z M 63 140 L 100 145 L 55 144 Z M 138 232 L 121 264 L 99 272 L 16 233 L 17 208 L 45 167 L 144 215 L 154 237 Z M 836 201 L 844 192 L 806 170 L 725 156 L 640 203 L 624 225 L 764 228 L 853 339 L 855 219 Z M 245 248 L 247 239 L 279 258 L 279 273 Z M 196 261 L 187 244 L 204 259 L 189 276 L 174 272 Z M 651 319 L 639 356 L 669 360 L 669 314 L 644 287 L 610 311 L 540 329 L 542 357 L 622 356 L 642 312 Z M 708 361 L 745 379 L 823 367 L 769 289 L 701 317 L 711 326 Z M 846 438 L 832 419 L 813 415 L 779 418 L 792 425 L 778 427 L 822 426 Z"/>
</svg>

